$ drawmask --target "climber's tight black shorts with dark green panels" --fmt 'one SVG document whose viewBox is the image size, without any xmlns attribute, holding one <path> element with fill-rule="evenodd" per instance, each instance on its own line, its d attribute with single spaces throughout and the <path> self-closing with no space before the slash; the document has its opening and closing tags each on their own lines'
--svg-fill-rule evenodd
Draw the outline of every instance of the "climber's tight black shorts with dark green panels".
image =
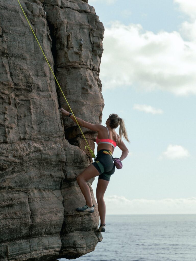
<svg viewBox="0 0 196 261">
<path fill-rule="evenodd" d="M 93 166 L 99 171 L 99 179 L 109 181 L 110 176 L 114 174 L 115 165 L 113 159 L 110 154 L 105 154 L 103 151 L 108 150 L 100 150 L 97 153 L 95 162 L 93 162 Z"/>
</svg>

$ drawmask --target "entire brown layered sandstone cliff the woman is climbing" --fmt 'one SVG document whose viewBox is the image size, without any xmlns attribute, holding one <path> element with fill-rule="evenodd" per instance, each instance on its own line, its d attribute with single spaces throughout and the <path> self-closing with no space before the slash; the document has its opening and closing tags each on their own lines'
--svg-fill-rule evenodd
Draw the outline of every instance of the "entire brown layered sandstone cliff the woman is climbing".
<svg viewBox="0 0 196 261">
<path fill-rule="evenodd" d="M 74 114 L 101 123 L 104 28 L 94 8 L 87 0 L 20 2 Z M 91 159 L 59 112 L 69 109 L 18 1 L 0 0 L 0 19 L 0 260 L 74 259 L 102 240 L 97 207 L 75 211 L 85 204 L 76 177 Z M 82 130 L 94 149 L 96 133 Z"/>
</svg>

